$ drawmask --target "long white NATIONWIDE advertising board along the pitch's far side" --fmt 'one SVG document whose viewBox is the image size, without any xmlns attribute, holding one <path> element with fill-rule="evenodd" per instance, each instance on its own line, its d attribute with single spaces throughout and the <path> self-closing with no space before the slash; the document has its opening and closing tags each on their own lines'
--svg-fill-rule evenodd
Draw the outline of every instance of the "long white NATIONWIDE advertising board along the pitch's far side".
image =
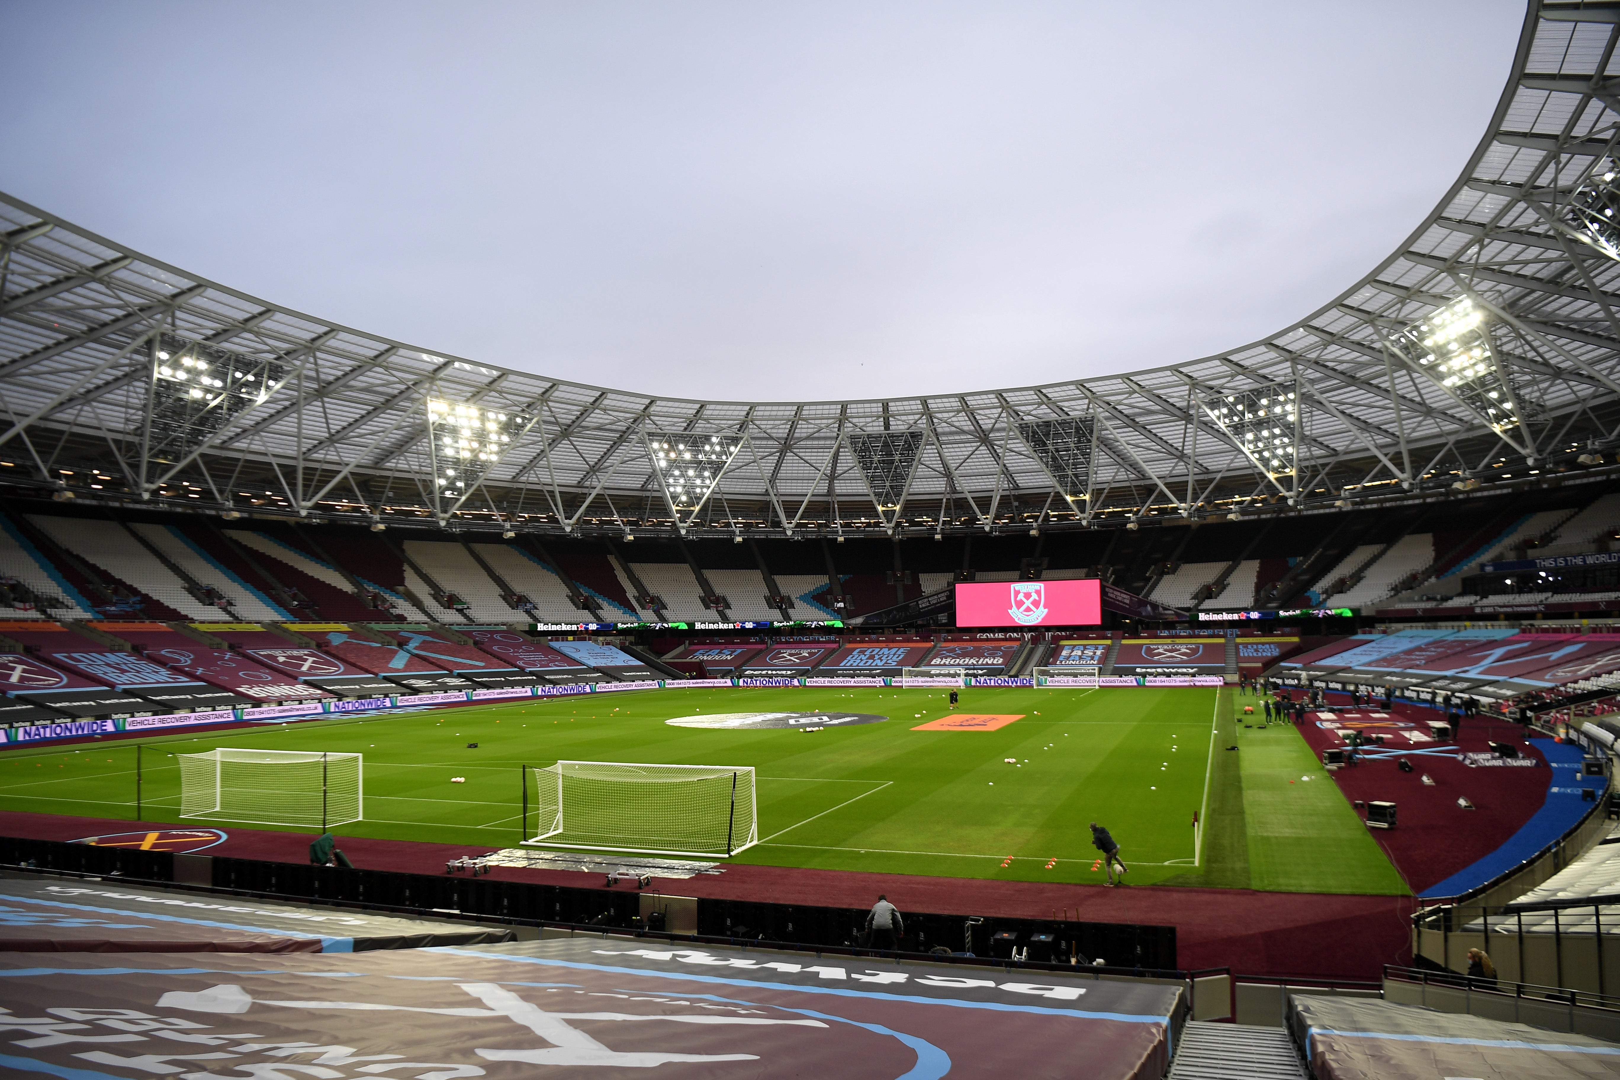
<svg viewBox="0 0 1620 1080">
<path fill-rule="evenodd" d="M 209 709 L 202 712 L 162 712 L 151 716 L 113 714 L 89 721 L 62 721 L 60 724 L 18 724 L 16 727 L 0 727 L 0 750 L 26 746 L 31 743 L 53 742 L 63 738 L 99 738 L 102 735 L 165 732 L 177 727 L 204 727 L 209 724 L 292 724 L 296 721 L 318 721 L 345 712 L 379 712 L 394 709 L 437 709 L 462 704 L 481 704 L 489 701 L 515 701 L 520 698 L 570 698 L 582 693 L 616 693 L 620 690 L 697 690 L 739 687 L 744 690 L 770 687 L 1051 687 L 1095 690 L 1098 687 L 1221 687 L 1220 675 L 1105 675 L 1100 678 L 1082 678 L 1071 675 L 1042 675 L 1011 678 L 1001 675 L 941 675 L 938 670 L 930 675 L 901 674 L 885 678 L 878 675 L 842 675 L 842 677 L 807 677 L 807 678 L 645 678 L 638 682 L 619 683 L 569 683 L 546 687 L 505 687 L 502 690 L 452 690 L 441 693 L 402 693 L 379 698 L 340 698 L 337 701 L 309 701 L 305 704 L 271 704 L 262 708 L 241 709 Z"/>
</svg>

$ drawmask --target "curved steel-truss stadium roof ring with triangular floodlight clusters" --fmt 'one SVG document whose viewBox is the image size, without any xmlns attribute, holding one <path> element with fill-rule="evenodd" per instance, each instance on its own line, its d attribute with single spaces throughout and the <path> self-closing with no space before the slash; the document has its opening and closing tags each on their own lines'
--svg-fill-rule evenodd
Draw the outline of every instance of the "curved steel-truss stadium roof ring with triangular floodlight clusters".
<svg viewBox="0 0 1620 1080">
<path fill-rule="evenodd" d="M 693 402 L 491 368 L 0 194 L 0 483 L 450 528 L 927 534 L 1547 476 L 1620 426 L 1617 44 L 1620 3 L 1529 3 L 1461 176 L 1299 322 L 1174 366 L 972 393 Z"/>
</svg>

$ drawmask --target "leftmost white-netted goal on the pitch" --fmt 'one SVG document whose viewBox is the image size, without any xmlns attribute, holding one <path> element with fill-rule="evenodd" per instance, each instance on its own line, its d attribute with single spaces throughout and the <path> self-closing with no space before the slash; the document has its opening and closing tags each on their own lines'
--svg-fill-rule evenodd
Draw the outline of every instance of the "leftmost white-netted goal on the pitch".
<svg viewBox="0 0 1620 1080">
<path fill-rule="evenodd" d="M 364 818 L 361 755 L 209 750 L 180 758 L 180 816 L 329 829 Z"/>
</svg>

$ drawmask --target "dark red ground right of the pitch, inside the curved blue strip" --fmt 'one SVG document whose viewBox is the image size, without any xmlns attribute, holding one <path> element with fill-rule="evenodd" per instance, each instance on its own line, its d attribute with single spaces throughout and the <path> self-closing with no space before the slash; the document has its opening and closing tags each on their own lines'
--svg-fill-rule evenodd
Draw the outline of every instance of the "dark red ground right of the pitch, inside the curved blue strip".
<svg viewBox="0 0 1620 1080">
<path fill-rule="evenodd" d="M 1541 763 L 1534 769 L 1469 767 L 1460 758 L 1411 753 L 1406 755 L 1413 764 L 1411 772 L 1400 771 L 1396 763 L 1401 755 L 1361 761 L 1333 772 L 1333 780 L 1345 798 L 1396 805 L 1396 826 L 1372 829 L 1372 837 L 1413 892 L 1421 894 L 1502 847 L 1547 800 L 1552 769 L 1541 753 L 1526 745 L 1524 729 L 1518 724 L 1479 716 L 1463 721 L 1461 743 L 1429 742 L 1408 746 L 1400 737 L 1401 730 L 1414 730 L 1409 725 L 1416 725 L 1418 732 L 1427 733 L 1429 725 L 1424 721 L 1440 721 L 1443 714 L 1396 703 L 1387 714 L 1388 721 L 1408 727 L 1393 727 L 1380 725 L 1374 716 L 1383 714 L 1382 708 L 1351 709 L 1330 704 L 1327 711 L 1338 717 L 1333 722 L 1359 722 L 1369 725 L 1369 732 L 1390 732 L 1387 748 L 1460 745 L 1464 753 L 1490 753 L 1490 742 L 1511 742 L 1521 755 Z M 1319 727 L 1315 712 L 1306 712 L 1306 722 L 1299 730 L 1317 756 L 1328 746 L 1343 746 L 1332 729 Z M 1434 787 L 1422 782 L 1424 774 L 1434 779 Z M 1458 806 L 1458 797 L 1466 797 L 1474 803 L 1474 810 Z M 1367 816 L 1364 810 L 1361 816 Z"/>
</svg>

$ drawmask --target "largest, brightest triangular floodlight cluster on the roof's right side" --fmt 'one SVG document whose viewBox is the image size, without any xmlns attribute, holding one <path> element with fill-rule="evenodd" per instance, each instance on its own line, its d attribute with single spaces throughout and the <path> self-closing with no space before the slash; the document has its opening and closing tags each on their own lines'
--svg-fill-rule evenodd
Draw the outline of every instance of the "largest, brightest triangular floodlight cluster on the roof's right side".
<svg viewBox="0 0 1620 1080">
<path fill-rule="evenodd" d="M 1458 296 L 1409 324 L 1392 342 L 1408 368 L 1440 387 L 1515 450 L 1534 457 L 1536 449 L 1523 439 L 1513 382 L 1497 351 L 1497 325 L 1484 304 Z"/>
</svg>

